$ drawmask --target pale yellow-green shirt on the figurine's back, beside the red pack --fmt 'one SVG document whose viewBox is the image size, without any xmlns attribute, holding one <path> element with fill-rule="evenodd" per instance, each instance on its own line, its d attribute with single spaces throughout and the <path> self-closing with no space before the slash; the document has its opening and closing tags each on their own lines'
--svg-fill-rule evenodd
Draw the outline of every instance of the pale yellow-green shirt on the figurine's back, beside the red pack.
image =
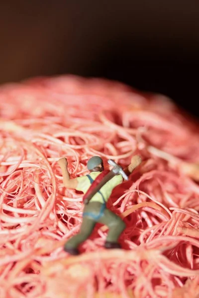
<svg viewBox="0 0 199 298">
<path fill-rule="evenodd" d="M 93 180 L 95 180 L 99 175 L 100 172 L 92 172 L 89 174 Z M 84 194 L 88 191 L 88 189 L 91 186 L 91 181 L 87 176 L 78 177 L 78 186 L 76 187 L 76 190 L 82 191 Z M 109 199 L 113 188 L 120 184 L 123 181 L 123 178 L 121 175 L 116 175 L 113 178 L 111 178 L 108 182 L 106 182 L 101 188 L 100 192 L 97 192 L 90 202 L 100 202 L 103 203 L 104 201 L 107 202 Z M 104 201 L 103 201 L 103 198 Z"/>
</svg>

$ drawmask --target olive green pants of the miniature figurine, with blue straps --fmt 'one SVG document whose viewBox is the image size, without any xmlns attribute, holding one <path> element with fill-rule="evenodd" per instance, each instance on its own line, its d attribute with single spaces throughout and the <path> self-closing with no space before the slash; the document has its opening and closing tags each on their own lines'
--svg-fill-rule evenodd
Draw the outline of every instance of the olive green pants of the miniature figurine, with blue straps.
<svg viewBox="0 0 199 298">
<path fill-rule="evenodd" d="M 108 210 L 104 204 L 90 202 L 85 205 L 80 232 L 66 242 L 65 248 L 78 248 L 81 243 L 89 238 L 97 223 L 107 225 L 109 228 L 106 237 L 108 242 L 117 242 L 126 226 L 122 219 Z"/>
</svg>

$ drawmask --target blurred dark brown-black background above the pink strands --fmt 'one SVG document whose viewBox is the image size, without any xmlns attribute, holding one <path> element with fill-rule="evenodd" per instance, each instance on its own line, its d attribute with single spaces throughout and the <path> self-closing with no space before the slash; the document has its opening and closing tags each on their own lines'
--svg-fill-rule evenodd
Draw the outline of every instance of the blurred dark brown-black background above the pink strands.
<svg viewBox="0 0 199 298">
<path fill-rule="evenodd" d="M 79 74 L 161 92 L 199 116 L 198 0 L 0 2 L 0 83 Z"/>
</svg>

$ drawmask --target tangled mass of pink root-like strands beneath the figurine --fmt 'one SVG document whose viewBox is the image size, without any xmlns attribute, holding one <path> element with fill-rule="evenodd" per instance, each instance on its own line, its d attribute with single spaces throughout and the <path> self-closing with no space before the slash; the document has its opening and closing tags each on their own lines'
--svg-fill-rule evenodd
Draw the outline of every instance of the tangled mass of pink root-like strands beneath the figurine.
<svg viewBox="0 0 199 298">
<path fill-rule="evenodd" d="M 66 189 L 100 155 L 140 154 L 108 208 L 126 223 L 123 249 L 97 225 L 77 257 L 81 193 Z M 102 79 L 35 78 L 0 87 L 0 298 L 197 298 L 199 131 L 169 99 Z"/>
</svg>

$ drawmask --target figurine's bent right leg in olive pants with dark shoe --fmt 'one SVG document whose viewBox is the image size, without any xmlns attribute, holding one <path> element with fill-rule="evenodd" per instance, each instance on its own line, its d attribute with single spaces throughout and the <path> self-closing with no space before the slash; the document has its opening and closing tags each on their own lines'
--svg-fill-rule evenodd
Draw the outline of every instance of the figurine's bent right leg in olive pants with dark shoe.
<svg viewBox="0 0 199 298">
<path fill-rule="evenodd" d="M 105 247 L 120 248 L 118 238 L 126 227 L 122 219 L 110 210 L 105 209 L 98 222 L 107 225 L 107 227 L 109 228 Z"/>
</svg>

